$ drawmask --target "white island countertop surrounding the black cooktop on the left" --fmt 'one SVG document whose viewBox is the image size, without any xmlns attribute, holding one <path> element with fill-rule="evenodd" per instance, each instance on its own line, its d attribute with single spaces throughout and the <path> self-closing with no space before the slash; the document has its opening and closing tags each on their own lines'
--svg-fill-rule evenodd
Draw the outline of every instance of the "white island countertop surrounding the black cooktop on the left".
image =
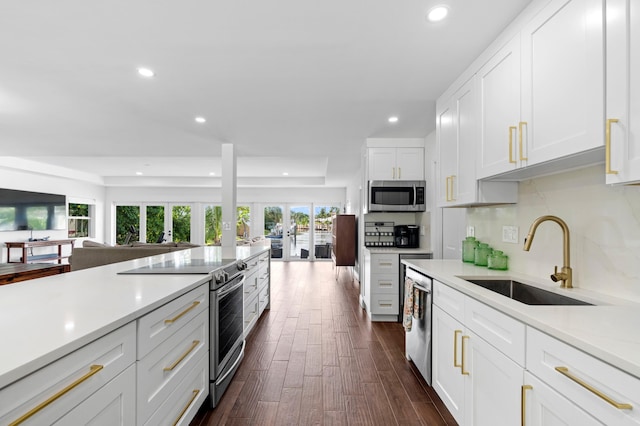
<svg viewBox="0 0 640 426">
<path fill-rule="evenodd" d="M 268 247 L 240 246 L 238 259 Z M 0 389 L 209 281 L 197 275 L 118 275 L 187 257 L 221 258 L 199 247 L 0 286 Z"/>
</svg>

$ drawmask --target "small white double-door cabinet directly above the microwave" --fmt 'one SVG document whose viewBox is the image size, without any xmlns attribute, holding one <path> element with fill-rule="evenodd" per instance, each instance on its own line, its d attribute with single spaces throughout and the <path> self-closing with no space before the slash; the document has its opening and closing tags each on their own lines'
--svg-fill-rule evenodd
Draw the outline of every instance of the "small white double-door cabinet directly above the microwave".
<svg viewBox="0 0 640 426">
<path fill-rule="evenodd" d="M 369 180 L 424 180 L 424 148 L 369 148 Z"/>
</svg>

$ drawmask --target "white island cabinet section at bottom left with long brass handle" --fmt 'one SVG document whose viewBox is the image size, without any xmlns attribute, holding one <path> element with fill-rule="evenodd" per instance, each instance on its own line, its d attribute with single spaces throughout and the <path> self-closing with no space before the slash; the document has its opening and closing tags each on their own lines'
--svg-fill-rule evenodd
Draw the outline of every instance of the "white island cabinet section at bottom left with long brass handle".
<svg viewBox="0 0 640 426">
<path fill-rule="evenodd" d="M 97 424 L 133 424 L 135 358 L 136 328 L 130 323 L 0 390 L 0 424 L 79 424 L 65 416 L 98 419 L 104 409 L 121 411 Z"/>
</svg>

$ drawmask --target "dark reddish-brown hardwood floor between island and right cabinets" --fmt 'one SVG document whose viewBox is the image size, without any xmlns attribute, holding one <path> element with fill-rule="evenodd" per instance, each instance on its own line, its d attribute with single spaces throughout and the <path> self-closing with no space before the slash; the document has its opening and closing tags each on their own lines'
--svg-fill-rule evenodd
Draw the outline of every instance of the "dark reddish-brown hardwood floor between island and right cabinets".
<svg viewBox="0 0 640 426">
<path fill-rule="evenodd" d="M 372 323 L 346 268 L 272 262 L 271 310 L 214 410 L 192 426 L 454 425 L 404 356 L 400 323 Z"/>
</svg>

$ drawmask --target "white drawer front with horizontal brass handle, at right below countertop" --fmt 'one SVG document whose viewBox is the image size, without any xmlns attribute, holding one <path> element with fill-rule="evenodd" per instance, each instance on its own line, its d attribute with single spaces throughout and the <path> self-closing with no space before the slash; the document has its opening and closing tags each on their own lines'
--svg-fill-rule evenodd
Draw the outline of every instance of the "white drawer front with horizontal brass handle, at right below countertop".
<svg viewBox="0 0 640 426">
<path fill-rule="evenodd" d="M 566 368 L 565 374 L 577 377 L 584 386 L 556 367 Z M 605 424 L 640 424 L 640 379 L 532 327 L 527 327 L 527 370 Z M 633 408 L 616 408 L 594 391 Z"/>
</svg>

